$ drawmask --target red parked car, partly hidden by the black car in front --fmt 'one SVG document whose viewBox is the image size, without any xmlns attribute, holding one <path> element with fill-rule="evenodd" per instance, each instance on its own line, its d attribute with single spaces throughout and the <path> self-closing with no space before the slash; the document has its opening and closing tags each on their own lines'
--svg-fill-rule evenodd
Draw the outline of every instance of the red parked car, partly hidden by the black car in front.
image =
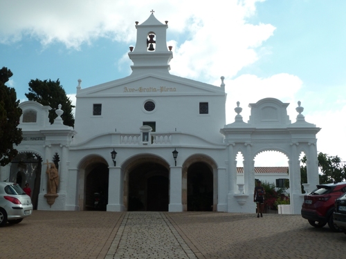
<svg viewBox="0 0 346 259">
<path fill-rule="evenodd" d="M 341 231 L 333 220 L 335 200 L 346 192 L 346 182 L 336 184 L 319 184 L 317 189 L 304 195 L 302 217 L 313 227 L 328 226 L 333 231 Z"/>
</svg>

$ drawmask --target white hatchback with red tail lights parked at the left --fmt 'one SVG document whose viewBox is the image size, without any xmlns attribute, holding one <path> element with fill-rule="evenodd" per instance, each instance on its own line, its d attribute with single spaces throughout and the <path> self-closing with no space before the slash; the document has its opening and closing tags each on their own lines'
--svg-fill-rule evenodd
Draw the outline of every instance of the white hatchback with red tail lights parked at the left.
<svg viewBox="0 0 346 259">
<path fill-rule="evenodd" d="M 0 227 L 6 222 L 17 224 L 31 213 L 31 198 L 21 186 L 13 182 L 0 182 Z"/>
</svg>

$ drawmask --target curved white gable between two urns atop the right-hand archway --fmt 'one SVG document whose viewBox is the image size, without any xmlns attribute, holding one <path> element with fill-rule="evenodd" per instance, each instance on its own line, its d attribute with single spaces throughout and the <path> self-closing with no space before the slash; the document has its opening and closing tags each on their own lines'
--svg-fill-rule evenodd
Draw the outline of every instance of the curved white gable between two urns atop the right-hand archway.
<svg viewBox="0 0 346 259">
<path fill-rule="evenodd" d="M 251 116 L 248 124 L 253 125 L 289 125 L 291 120 L 287 115 L 289 103 L 283 103 L 279 99 L 265 98 L 255 104 L 248 105 L 251 108 Z"/>
</svg>

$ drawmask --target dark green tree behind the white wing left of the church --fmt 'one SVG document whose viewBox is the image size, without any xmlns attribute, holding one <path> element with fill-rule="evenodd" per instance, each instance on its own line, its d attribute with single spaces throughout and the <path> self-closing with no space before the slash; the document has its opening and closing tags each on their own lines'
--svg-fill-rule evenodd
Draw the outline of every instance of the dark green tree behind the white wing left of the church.
<svg viewBox="0 0 346 259">
<path fill-rule="evenodd" d="M 39 79 L 30 80 L 29 93 L 26 93 L 25 96 L 29 101 L 51 106 L 52 110 L 49 111 L 49 122 L 51 124 L 53 124 L 54 119 L 57 117 L 55 110 L 61 104 L 62 110 L 64 111 L 62 115 L 64 124 L 74 126 L 75 119 L 73 118 L 72 108 L 75 106 L 72 105 L 70 98 L 67 97 L 64 88 L 60 85 L 59 79 L 57 81 L 51 81 L 51 79 L 44 81 Z"/>
</svg>

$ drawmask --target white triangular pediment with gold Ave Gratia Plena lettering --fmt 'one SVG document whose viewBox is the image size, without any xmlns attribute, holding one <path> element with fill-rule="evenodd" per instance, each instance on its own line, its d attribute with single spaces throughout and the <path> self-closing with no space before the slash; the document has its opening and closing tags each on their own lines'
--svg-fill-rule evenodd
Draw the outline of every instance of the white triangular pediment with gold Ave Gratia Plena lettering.
<svg viewBox="0 0 346 259">
<path fill-rule="evenodd" d="M 224 88 L 174 75 L 147 74 L 129 76 L 78 90 L 76 97 L 112 97 L 124 95 L 226 95 Z"/>
</svg>

